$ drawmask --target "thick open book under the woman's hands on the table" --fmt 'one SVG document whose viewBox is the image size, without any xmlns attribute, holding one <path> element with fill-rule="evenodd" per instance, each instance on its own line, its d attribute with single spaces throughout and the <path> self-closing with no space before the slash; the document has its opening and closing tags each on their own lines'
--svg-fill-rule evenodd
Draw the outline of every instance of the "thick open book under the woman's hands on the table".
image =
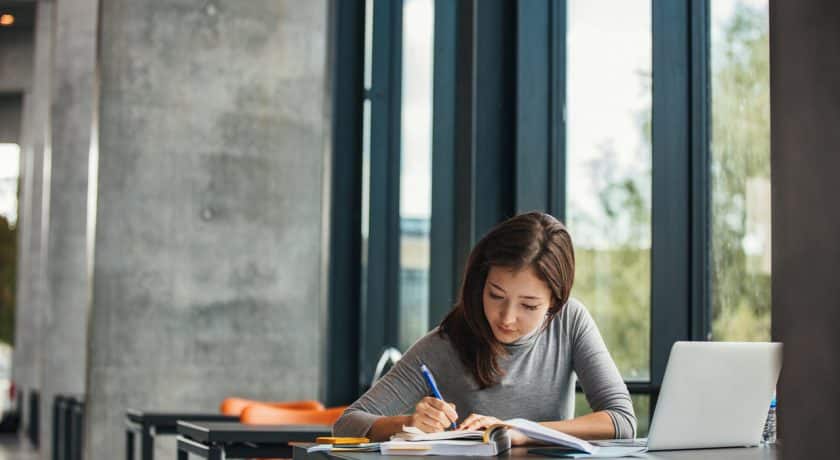
<svg viewBox="0 0 840 460">
<path fill-rule="evenodd" d="M 522 418 L 505 420 L 483 431 L 442 431 L 424 433 L 415 427 L 403 427 L 403 432 L 381 444 L 383 454 L 399 455 L 498 455 L 510 448 L 507 429 L 513 428 L 531 439 L 546 444 L 564 446 L 591 454 L 596 446 L 583 439 L 546 428 Z"/>
</svg>

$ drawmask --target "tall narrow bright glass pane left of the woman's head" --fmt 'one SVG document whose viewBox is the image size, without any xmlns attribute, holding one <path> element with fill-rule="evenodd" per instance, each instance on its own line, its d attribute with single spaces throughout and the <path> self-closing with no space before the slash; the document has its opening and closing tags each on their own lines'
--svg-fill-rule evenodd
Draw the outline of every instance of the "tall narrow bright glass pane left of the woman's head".
<svg viewBox="0 0 840 460">
<path fill-rule="evenodd" d="M 405 0 L 400 165 L 400 336 L 405 350 L 429 328 L 434 1 Z"/>
</svg>

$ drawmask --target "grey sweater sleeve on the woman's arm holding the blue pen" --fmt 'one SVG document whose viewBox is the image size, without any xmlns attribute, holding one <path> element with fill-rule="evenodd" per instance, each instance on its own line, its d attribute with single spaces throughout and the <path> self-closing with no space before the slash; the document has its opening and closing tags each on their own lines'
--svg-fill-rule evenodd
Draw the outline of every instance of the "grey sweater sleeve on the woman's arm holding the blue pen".
<svg viewBox="0 0 840 460">
<path fill-rule="evenodd" d="M 435 335 L 432 332 L 417 341 L 387 374 L 351 404 L 333 425 L 334 435 L 366 436 L 378 418 L 403 415 L 413 409 L 427 394 L 420 363 L 424 357 L 433 359 L 429 352 L 432 342 L 438 339 Z"/>
</svg>

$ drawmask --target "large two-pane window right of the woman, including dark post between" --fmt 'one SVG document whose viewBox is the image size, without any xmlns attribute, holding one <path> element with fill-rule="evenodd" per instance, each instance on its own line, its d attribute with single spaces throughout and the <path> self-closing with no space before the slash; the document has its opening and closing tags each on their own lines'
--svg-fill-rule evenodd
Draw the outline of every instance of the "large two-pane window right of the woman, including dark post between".
<svg viewBox="0 0 840 460">
<path fill-rule="evenodd" d="M 766 0 L 659 4 L 658 25 L 652 6 L 568 2 L 564 153 L 573 295 L 592 312 L 625 380 L 651 381 L 635 388 L 655 395 L 651 369 L 664 369 L 673 340 L 770 339 L 770 109 Z M 690 37 L 690 55 L 665 43 L 679 36 Z M 684 73 L 651 71 L 678 66 Z M 655 164 L 665 166 L 658 188 Z M 654 209 L 654 193 L 682 201 L 660 199 L 676 208 Z M 690 211 L 674 213 L 679 207 Z M 658 236 L 657 212 L 667 216 Z M 679 287 L 663 279 L 686 278 L 659 278 L 656 312 L 652 238 L 667 251 L 657 260 L 682 264 L 689 278 Z M 577 403 L 578 414 L 590 410 L 582 395 Z M 644 435 L 655 399 L 634 394 L 633 403 Z"/>
</svg>

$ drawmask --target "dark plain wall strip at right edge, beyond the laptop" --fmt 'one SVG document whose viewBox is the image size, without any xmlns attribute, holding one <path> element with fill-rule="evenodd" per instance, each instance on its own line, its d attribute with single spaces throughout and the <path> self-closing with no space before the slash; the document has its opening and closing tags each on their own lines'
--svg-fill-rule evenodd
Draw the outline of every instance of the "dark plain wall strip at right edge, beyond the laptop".
<svg viewBox="0 0 840 460">
<path fill-rule="evenodd" d="M 783 458 L 832 458 L 840 431 L 840 3 L 770 2 L 773 338 Z"/>
</svg>

